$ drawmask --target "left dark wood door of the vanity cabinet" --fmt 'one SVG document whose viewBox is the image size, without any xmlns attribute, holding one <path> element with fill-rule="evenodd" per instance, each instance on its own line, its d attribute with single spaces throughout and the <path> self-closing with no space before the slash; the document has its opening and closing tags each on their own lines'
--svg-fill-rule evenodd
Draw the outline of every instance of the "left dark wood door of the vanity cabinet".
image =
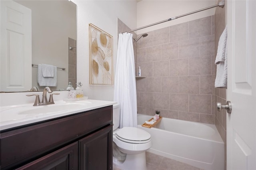
<svg viewBox="0 0 256 170">
<path fill-rule="evenodd" d="M 78 142 L 74 142 L 17 170 L 78 170 Z"/>
</svg>

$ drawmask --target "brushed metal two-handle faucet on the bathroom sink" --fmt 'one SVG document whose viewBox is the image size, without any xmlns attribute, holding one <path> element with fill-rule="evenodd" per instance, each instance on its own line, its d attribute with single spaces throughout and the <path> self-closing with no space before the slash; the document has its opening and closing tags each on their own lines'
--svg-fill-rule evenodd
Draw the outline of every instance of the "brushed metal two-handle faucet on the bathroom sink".
<svg viewBox="0 0 256 170">
<path fill-rule="evenodd" d="M 46 94 L 50 93 L 49 101 L 47 101 Z M 52 95 L 59 95 L 60 93 L 52 93 L 52 89 L 50 87 L 45 87 L 43 91 L 43 99 L 42 102 L 40 102 L 39 95 L 38 94 L 29 94 L 26 96 L 36 96 L 36 100 L 33 106 L 42 106 L 42 105 L 51 105 L 54 104 Z"/>
</svg>

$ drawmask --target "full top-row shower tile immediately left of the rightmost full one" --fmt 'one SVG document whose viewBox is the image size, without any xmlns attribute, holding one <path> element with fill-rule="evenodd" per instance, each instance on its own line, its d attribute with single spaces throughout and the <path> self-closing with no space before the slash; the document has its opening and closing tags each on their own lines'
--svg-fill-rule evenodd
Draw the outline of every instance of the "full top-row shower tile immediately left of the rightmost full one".
<svg viewBox="0 0 256 170">
<path fill-rule="evenodd" d="M 170 26 L 170 42 L 188 40 L 188 22 Z"/>
</svg>

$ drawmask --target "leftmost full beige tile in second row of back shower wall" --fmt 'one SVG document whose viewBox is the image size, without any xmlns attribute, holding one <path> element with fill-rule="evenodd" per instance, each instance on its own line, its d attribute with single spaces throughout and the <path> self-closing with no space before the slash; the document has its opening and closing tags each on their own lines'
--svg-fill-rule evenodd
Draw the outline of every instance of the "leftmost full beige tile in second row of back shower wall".
<svg viewBox="0 0 256 170">
<path fill-rule="evenodd" d="M 161 45 L 156 45 L 146 48 L 146 61 L 160 61 L 161 60 Z"/>
</svg>

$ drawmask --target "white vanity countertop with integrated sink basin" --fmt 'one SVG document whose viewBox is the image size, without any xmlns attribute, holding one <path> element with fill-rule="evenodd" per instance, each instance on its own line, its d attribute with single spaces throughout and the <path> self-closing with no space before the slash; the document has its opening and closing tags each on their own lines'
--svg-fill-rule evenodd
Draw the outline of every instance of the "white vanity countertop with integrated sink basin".
<svg viewBox="0 0 256 170">
<path fill-rule="evenodd" d="M 33 103 L 3 106 L 0 109 L 0 130 L 46 121 L 75 113 L 114 105 L 114 101 L 56 101 L 53 105 L 32 106 Z"/>
</svg>

